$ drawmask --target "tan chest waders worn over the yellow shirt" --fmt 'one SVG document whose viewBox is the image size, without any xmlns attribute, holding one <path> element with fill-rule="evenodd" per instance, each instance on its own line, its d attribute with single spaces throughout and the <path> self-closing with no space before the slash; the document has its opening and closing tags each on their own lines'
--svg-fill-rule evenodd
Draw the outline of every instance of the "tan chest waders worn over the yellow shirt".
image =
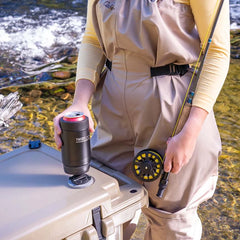
<svg viewBox="0 0 240 240">
<path fill-rule="evenodd" d="M 174 0 L 96 0 L 92 13 L 111 63 L 93 99 L 98 125 L 91 138 L 92 156 L 139 182 L 132 171 L 134 157 L 145 149 L 164 156 L 188 91 L 192 72 L 185 68 L 200 53 L 194 17 L 189 5 Z M 158 67 L 168 74 L 154 75 Z M 151 223 L 146 239 L 200 239 L 196 209 L 214 192 L 220 150 L 210 112 L 192 158 L 179 174 L 168 176 L 162 198 L 156 196 L 159 179 L 142 182 L 150 200 L 143 209 Z"/>
</svg>

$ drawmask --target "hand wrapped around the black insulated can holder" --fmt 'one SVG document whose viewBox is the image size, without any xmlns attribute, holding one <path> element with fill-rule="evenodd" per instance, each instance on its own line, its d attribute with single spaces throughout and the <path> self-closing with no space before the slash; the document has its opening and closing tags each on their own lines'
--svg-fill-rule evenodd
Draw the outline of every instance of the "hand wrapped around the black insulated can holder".
<svg viewBox="0 0 240 240">
<path fill-rule="evenodd" d="M 60 118 L 62 118 L 66 113 L 73 112 L 73 111 L 82 112 L 85 116 L 87 116 L 88 120 L 89 120 L 89 131 L 94 132 L 94 122 L 92 120 L 91 113 L 88 109 L 88 106 L 81 107 L 80 105 L 73 104 L 53 119 L 53 122 L 54 122 L 54 139 L 55 139 L 55 143 L 56 143 L 58 149 L 60 149 L 62 147 L 62 140 L 61 140 L 61 137 L 60 137 L 61 127 L 60 127 L 60 124 L 59 124 Z"/>
</svg>

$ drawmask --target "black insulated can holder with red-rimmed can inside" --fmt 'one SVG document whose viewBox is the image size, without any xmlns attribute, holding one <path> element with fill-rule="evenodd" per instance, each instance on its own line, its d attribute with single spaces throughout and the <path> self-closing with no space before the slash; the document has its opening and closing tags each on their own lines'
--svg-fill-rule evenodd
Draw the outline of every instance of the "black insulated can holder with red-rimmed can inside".
<svg viewBox="0 0 240 240">
<path fill-rule="evenodd" d="M 90 167 L 90 135 L 88 117 L 70 112 L 60 119 L 62 129 L 62 163 L 67 174 L 82 175 Z"/>
</svg>

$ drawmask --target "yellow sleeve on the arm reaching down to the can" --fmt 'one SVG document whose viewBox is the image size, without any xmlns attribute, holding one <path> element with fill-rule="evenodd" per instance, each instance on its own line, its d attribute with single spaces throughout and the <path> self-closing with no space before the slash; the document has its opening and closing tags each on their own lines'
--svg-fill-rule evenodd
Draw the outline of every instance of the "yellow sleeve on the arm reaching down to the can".
<svg viewBox="0 0 240 240">
<path fill-rule="evenodd" d="M 93 0 L 89 0 L 86 29 L 78 54 L 76 82 L 81 79 L 87 79 L 97 86 L 106 59 L 94 30 L 92 4 Z"/>
</svg>

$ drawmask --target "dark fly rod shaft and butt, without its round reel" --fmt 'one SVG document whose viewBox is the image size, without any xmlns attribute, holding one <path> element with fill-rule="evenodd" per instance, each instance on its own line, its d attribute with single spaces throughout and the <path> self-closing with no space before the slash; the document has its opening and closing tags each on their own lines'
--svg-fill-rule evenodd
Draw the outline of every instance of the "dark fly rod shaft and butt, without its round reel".
<svg viewBox="0 0 240 240">
<path fill-rule="evenodd" d="M 221 12 L 221 9 L 223 6 L 223 2 L 224 2 L 224 0 L 220 0 L 220 3 L 218 4 L 218 2 L 217 2 L 217 4 L 216 4 L 215 11 L 216 11 L 216 9 L 217 9 L 217 11 L 215 14 L 215 19 L 213 19 L 213 16 L 214 16 L 214 14 L 213 14 L 171 137 L 173 137 L 174 135 L 176 135 L 177 133 L 179 133 L 181 131 L 186 120 L 188 119 L 188 116 L 189 116 L 189 113 L 191 110 L 191 105 L 192 105 L 192 98 L 194 96 L 194 92 L 195 92 L 195 88 L 196 88 L 198 79 L 202 72 L 203 64 L 204 64 L 205 58 L 207 56 L 210 43 L 212 42 L 212 36 L 213 36 L 214 30 L 215 30 L 215 27 L 217 25 L 217 21 L 218 21 L 218 18 L 219 18 L 219 15 L 220 15 L 220 12 Z M 217 8 L 217 6 L 218 6 L 218 8 Z M 211 29 L 212 22 L 213 22 L 213 24 L 212 24 L 212 29 Z M 211 29 L 211 31 L 210 31 L 210 29 Z M 208 39 L 207 39 L 207 36 L 209 36 Z M 199 63 L 200 63 L 200 66 L 198 68 Z M 198 68 L 198 70 L 197 70 L 197 68 Z M 165 155 L 163 157 L 163 161 L 164 160 L 165 160 Z M 159 181 L 159 188 L 158 188 L 158 192 L 157 192 L 158 197 L 163 196 L 163 192 L 164 192 L 165 188 L 167 187 L 168 177 L 169 177 L 169 173 L 163 172 L 161 179 Z"/>
</svg>

